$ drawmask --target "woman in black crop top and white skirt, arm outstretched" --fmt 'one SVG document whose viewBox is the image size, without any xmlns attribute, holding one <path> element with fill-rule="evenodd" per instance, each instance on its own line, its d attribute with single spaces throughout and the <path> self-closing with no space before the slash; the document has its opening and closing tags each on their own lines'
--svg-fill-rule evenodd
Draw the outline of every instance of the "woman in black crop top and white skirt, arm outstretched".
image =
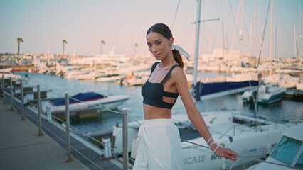
<svg viewBox="0 0 303 170">
<path fill-rule="evenodd" d="M 157 23 L 147 30 L 149 51 L 161 62 L 153 64 L 149 79 L 142 86 L 144 120 L 138 132 L 139 148 L 134 170 L 182 169 L 179 131 L 171 120 L 171 108 L 179 95 L 188 118 L 210 145 L 210 149 L 220 157 L 235 161 L 237 153 L 218 147 L 213 141 L 188 91 L 186 76 L 182 69 L 184 63 L 179 53 L 181 49 L 173 44 L 171 30 L 165 24 Z"/>
</svg>

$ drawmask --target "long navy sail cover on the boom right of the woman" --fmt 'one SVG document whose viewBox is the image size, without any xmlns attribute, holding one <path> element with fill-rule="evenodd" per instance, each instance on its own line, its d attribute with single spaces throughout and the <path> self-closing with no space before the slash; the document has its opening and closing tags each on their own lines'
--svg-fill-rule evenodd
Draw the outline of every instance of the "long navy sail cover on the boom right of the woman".
<svg viewBox="0 0 303 170">
<path fill-rule="evenodd" d="M 216 83 L 202 83 L 197 82 L 193 95 L 196 101 L 200 101 L 201 96 L 208 94 L 215 94 L 221 91 L 228 91 L 232 89 L 238 89 L 246 86 L 257 86 L 258 81 L 240 81 L 240 82 L 216 82 Z"/>
</svg>

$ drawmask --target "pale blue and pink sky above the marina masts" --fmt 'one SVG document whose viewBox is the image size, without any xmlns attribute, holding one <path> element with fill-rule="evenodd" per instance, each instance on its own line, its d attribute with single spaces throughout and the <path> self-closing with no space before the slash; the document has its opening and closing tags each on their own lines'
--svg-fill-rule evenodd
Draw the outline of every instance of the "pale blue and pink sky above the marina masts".
<svg viewBox="0 0 303 170">
<path fill-rule="evenodd" d="M 266 26 L 265 19 L 269 2 L 243 0 L 241 15 L 239 0 L 202 1 L 201 20 L 218 20 L 201 23 L 200 53 L 224 45 L 258 55 L 265 30 L 261 57 L 268 57 L 270 11 Z M 297 40 L 299 30 L 303 32 L 299 29 L 300 2 L 274 0 L 272 57 L 294 56 L 294 29 Z M 194 55 L 196 27 L 191 23 L 196 21 L 196 9 L 196 0 L 0 0 L 0 53 L 15 53 L 16 39 L 22 38 L 21 53 L 62 53 L 66 40 L 69 54 L 97 55 L 103 40 L 104 53 L 115 49 L 117 54 L 149 55 L 146 31 L 154 23 L 166 23 L 174 43 Z"/>
</svg>

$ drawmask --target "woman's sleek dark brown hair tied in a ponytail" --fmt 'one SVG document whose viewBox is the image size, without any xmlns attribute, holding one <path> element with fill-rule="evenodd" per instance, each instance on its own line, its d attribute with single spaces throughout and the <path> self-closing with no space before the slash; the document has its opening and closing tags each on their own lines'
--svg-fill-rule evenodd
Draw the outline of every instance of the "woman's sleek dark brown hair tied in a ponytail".
<svg viewBox="0 0 303 170">
<path fill-rule="evenodd" d="M 167 40 L 169 40 L 169 38 L 171 38 L 173 36 L 169 27 L 166 26 L 164 23 L 156 23 L 154 26 L 151 26 L 151 28 L 149 28 L 149 30 L 147 30 L 147 35 L 149 35 L 149 33 L 151 33 L 151 32 L 159 33 L 159 34 L 163 35 L 164 38 L 166 38 Z M 173 55 L 174 55 L 174 60 L 176 60 L 176 62 L 178 62 L 178 64 L 179 64 L 179 66 L 181 68 L 183 68 L 184 63 L 182 61 L 180 52 L 177 50 L 173 50 Z"/>
</svg>

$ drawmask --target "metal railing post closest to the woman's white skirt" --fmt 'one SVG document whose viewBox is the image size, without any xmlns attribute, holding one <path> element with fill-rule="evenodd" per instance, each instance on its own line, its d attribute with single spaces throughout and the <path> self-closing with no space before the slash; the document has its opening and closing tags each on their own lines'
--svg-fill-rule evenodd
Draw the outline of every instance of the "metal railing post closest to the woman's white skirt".
<svg viewBox="0 0 303 170">
<path fill-rule="evenodd" d="M 122 123 L 123 123 L 123 170 L 127 170 L 127 165 L 128 165 L 128 151 L 127 151 L 128 117 L 127 117 L 127 108 L 122 109 Z"/>
</svg>

